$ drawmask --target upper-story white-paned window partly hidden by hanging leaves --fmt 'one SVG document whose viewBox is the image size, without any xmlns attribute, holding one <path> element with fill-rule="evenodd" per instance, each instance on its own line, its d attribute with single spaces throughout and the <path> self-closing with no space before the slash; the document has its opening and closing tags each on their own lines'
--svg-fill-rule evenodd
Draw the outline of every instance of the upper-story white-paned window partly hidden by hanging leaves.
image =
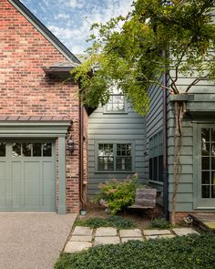
<svg viewBox="0 0 215 269">
<path fill-rule="evenodd" d="M 110 98 L 104 107 L 104 113 L 127 113 L 128 106 L 123 93 L 117 87 L 111 88 Z"/>
</svg>

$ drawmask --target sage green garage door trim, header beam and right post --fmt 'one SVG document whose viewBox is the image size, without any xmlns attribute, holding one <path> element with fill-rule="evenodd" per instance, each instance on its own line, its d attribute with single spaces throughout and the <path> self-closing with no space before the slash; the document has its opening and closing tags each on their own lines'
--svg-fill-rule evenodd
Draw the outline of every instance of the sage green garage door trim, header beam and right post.
<svg viewBox="0 0 215 269">
<path fill-rule="evenodd" d="M 66 205 L 66 137 L 71 119 L 51 121 L 0 120 L 2 139 L 58 139 L 58 213 L 67 212 Z"/>
</svg>

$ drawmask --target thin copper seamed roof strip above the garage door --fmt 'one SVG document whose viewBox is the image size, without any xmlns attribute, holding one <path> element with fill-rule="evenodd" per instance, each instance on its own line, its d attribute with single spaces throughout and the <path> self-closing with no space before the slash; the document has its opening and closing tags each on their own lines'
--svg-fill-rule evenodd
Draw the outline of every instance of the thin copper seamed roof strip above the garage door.
<svg viewBox="0 0 215 269">
<path fill-rule="evenodd" d="M 0 121 L 72 121 L 67 116 L 0 116 Z"/>
</svg>

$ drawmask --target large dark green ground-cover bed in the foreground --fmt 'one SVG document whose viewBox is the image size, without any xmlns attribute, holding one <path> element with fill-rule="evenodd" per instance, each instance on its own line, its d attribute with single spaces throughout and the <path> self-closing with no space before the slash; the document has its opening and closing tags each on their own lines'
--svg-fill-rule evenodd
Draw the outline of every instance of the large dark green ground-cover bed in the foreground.
<svg viewBox="0 0 215 269">
<path fill-rule="evenodd" d="M 210 269 L 215 268 L 215 234 L 98 245 L 63 254 L 55 269 Z"/>
</svg>

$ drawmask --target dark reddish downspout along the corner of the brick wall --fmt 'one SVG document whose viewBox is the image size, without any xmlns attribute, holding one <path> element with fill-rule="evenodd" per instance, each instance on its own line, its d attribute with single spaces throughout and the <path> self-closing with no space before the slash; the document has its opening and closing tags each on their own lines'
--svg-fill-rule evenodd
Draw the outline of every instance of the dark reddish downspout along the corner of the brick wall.
<svg viewBox="0 0 215 269">
<path fill-rule="evenodd" d="M 81 212 L 86 211 L 84 200 L 84 113 L 81 98 L 79 97 L 79 199 L 81 202 Z"/>
</svg>

